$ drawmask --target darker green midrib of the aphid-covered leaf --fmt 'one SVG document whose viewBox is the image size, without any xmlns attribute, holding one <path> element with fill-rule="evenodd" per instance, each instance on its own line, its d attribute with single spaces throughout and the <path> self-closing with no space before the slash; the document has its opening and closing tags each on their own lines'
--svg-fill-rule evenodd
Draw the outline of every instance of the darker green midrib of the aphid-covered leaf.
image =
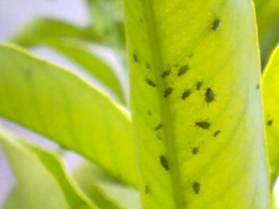
<svg viewBox="0 0 279 209">
<path fill-rule="evenodd" d="M 163 144 L 165 145 L 166 157 L 169 162 L 169 175 L 172 185 L 172 196 L 174 200 L 174 206 L 176 208 L 183 208 L 183 185 L 181 181 L 181 172 L 179 168 L 178 156 L 176 155 L 176 149 L 174 144 L 174 132 L 172 125 L 172 117 L 170 116 L 169 102 L 164 100 L 160 92 L 163 92 L 167 88 L 167 82 L 160 79 L 160 70 L 163 69 L 163 59 L 160 50 L 160 44 L 158 42 L 155 18 L 153 14 L 153 1 L 142 1 L 143 15 L 146 20 L 146 33 L 149 40 L 149 47 L 151 52 L 151 60 L 153 61 L 154 76 L 158 84 L 156 88 L 158 93 L 158 100 L 160 104 L 160 118 L 163 128 Z"/>
</svg>

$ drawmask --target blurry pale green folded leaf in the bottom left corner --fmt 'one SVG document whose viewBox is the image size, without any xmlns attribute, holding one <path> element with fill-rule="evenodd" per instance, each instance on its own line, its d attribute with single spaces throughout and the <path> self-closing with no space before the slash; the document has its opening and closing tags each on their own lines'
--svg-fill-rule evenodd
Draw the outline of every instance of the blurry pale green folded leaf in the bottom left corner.
<svg viewBox="0 0 279 209">
<path fill-rule="evenodd" d="M 3 130 L 0 142 L 17 176 L 20 196 L 14 195 L 20 208 L 96 208 L 75 187 L 58 157 Z"/>
</svg>

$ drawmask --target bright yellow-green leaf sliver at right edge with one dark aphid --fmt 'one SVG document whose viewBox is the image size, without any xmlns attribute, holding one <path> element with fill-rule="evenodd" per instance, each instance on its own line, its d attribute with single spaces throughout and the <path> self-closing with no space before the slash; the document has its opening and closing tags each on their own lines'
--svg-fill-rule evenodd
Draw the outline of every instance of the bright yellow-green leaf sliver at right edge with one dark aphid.
<svg viewBox="0 0 279 209">
<path fill-rule="evenodd" d="M 279 125 L 278 125 L 278 79 L 279 79 L 279 46 L 273 52 L 271 59 L 266 65 L 262 77 L 264 92 L 264 121 L 266 127 L 266 141 L 269 151 L 269 175 L 271 186 L 275 184 L 279 171 Z"/>
</svg>

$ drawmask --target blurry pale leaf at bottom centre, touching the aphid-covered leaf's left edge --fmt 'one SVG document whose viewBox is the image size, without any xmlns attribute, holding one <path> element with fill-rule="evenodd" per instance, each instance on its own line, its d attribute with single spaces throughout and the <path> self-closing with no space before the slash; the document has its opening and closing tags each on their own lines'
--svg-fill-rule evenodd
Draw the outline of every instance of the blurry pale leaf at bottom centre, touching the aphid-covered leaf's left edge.
<svg viewBox="0 0 279 209">
<path fill-rule="evenodd" d="M 82 191 L 100 208 L 115 208 L 117 206 L 125 209 L 140 209 L 140 196 L 137 190 L 117 182 L 88 162 L 78 167 L 73 173 L 73 177 Z M 103 194 L 107 196 L 107 199 L 103 198 Z M 100 198 L 97 199 L 98 196 Z M 114 206 L 111 204 L 113 201 L 115 202 Z"/>
</svg>

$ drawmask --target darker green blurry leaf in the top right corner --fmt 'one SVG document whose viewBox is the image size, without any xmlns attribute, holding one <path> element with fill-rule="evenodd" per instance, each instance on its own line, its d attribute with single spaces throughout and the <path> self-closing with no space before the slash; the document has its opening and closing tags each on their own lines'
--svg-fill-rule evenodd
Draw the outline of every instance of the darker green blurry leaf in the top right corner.
<svg viewBox="0 0 279 209">
<path fill-rule="evenodd" d="M 259 45 L 262 65 L 266 65 L 269 56 L 279 42 L 279 1 L 254 0 L 259 29 Z"/>
</svg>

